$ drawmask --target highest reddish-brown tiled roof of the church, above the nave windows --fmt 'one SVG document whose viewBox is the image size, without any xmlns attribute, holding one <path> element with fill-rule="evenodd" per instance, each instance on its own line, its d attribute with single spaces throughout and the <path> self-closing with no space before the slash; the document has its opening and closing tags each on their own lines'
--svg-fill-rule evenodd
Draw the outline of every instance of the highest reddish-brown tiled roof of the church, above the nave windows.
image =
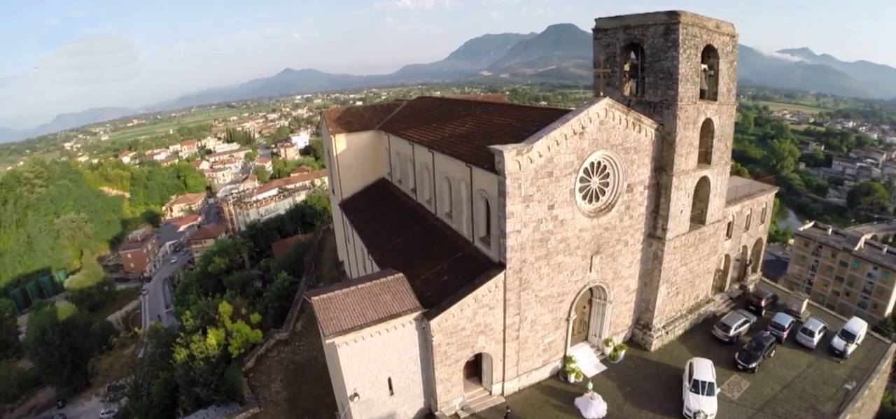
<svg viewBox="0 0 896 419">
<path fill-rule="evenodd" d="M 396 103 L 396 102 L 392 102 Z M 377 107 L 380 105 L 373 105 Z M 382 112 L 368 107 L 343 107 L 324 111 L 331 133 L 374 129 L 370 127 Z M 340 112 L 338 130 L 332 129 L 327 112 Z M 495 156 L 488 146 L 525 141 L 532 134 L 560 119 L 570 109 L 530 107 L 467 98 L 420 97 L 401 104 L 376 126 L 386 133 L 416 142 L 452 158 L 495 172 Z M 351 118 L 358 118 L 361 129 L 353 129 Z"/>
</svg>

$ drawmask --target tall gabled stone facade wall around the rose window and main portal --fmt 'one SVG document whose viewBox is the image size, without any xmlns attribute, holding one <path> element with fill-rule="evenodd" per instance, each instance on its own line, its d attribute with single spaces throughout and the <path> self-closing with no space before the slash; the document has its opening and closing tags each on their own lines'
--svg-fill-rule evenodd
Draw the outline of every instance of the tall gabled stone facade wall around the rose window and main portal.
<svg viewBox="0 0 896 419">
<path fill-rule="evenodd" d="M 567 350 L 573 302 L 591 286 L 608 295 L 607 335 L 630 333 L 649 259 L 642 248 L 656 130 L 649 119 L 604 98 L 530 142 L 497 148 L 507 261 L 505 394 L 556 369 Z M 575 185 L 582 163 L 598 150 L 617 156 L 624 182 L 616 204 L 590 217 L 576 205 Z"/>
</svg>

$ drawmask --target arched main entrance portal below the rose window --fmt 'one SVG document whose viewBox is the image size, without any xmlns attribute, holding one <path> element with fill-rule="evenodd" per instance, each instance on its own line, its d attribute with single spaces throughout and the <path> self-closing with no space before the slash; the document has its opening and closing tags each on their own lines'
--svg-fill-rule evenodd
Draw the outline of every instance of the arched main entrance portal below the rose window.
<svg viewBox="0 0 896 419">
<path fill-rule="evenodd" d="M 608 333 L 611 305 L 607 288 L 583 289 L 570 308 L 569 347 L 582 343 L 598 345 Z"/>
</svg>

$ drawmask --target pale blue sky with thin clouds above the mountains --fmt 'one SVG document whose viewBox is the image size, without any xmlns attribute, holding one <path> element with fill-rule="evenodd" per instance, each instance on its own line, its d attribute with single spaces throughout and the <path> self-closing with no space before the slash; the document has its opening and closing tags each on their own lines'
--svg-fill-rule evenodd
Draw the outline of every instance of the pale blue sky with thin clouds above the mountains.
<svg viewBox="0 0 896 419">
<path fill-rule="evenodd" d="M 737 25 L 741 43 L 811 47 L 896 66 L 896 2 L 607 0 L 41 1 L 0 14 L 0 127 L 88 107 L 140 107 L 314 67 L 389 73 L 485 33 L 682 9 Z M 845 16 L 849 16 L 844 18 Z"/>
</svg>

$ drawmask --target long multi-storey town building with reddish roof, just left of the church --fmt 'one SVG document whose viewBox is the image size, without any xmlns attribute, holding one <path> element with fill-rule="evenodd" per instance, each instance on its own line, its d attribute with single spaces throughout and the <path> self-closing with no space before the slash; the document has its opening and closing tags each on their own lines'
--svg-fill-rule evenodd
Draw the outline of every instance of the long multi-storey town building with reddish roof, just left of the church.
<svg viewBox="0 0 896 419">
<path fill-rule="evenodd" d="M 282 214 L 316 187 L 326 187 L 327 172 L 318 170 L 272 180 L 254 189 L 220 198 L 221 213 L 230 234 L 242 231 L 254 221 Z"/>
</svg>

